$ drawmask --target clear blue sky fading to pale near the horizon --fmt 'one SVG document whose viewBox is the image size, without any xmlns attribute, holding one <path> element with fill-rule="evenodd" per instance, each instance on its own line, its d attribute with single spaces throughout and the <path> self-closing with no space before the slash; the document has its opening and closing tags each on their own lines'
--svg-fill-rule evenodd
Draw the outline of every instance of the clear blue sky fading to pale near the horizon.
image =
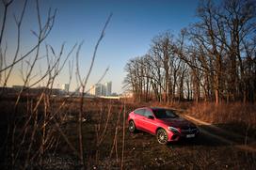
<svg viewBox="0 0 256 170">
<path fill-rule="evenodd" d="M 16 0 L 15 3 L 8 12 L 11 20 L 12 13 L 19 14 L 23 0 Z M 45 16 L 47 8 L 57 8 L 56 23 L 49 38 L 46 39 L 56 51 L 63 41 L 66 42 L 65 52 L 68 52 L 73 44 L 85 40 L 79 62 L 82 74 L 86 74 L 88 70 L 93 48 L 106 18 L 113 13 L 105 37 L 99 46 L 88 87 L 95 84 L 109 66 L 103 83 L 112 81 L 112 91 L 120 93 L 127 61 L 132 57 L 146 54 L 151 39 L 158 34 L 170 31 L 177 35 L 189 23 L 194 23 L 198 3 L 197 0 L 40 0 L 40 11 Z M 35 7 L 35 1 L 29 0 L 22 25 L 23 50 L 35 42 L 35 37 L 30 31 L 37 29 Z M 2 7 L 0 12 L 3 12 Z M 8 49 L 15 47 L 15 33 L 13 21 L 8 22 L 5 37 Z M 9 54 L 11 55 L 11 52 Z M 18 70 L 15 71 L 15 76 L 18 77 L 20 73 Z M 12 78 L 9 85 L 19 85 L 19 81 L 19 78 Z M 68 65 L 56 81 L 56 86 L 68 82 Z M 74 86 L 73 76 L 72 88 Z"/>
</svg>

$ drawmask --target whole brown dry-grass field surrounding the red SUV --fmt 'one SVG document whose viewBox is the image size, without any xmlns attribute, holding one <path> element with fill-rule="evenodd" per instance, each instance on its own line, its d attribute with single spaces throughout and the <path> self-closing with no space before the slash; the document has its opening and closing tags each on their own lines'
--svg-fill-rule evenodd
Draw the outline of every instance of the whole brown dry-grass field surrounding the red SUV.
<svg viewBox="0 0 256 170">
<path fill-rule="evenodd" d="M 63 100 L 66 101 L 65 105 L 59 108 Z M 7 131 L 12 102 L 14 100 L 6 99 L 0 102 L 1 116 L 3 117 L 1 118 L 1 136 L 4 137 L 1 142 L 1 152 L 3 153 L 1 154 L 1 169 L 11 167 L 9 155 L 11 145 L 7 142 L 11 140 L 9 140 L 9 137 L 7 138 Z M 17 119 L 17 128 L 15 131 L 15 145 L 12 149 L 13 153 L 18 153 L 18 156 L 14 169 L 24 167 L 28 153 L 27 148 L 33 131 L 34 121 L 29 121 L 24 135 L 24 121 L 29 116 L 27 104 L 28 102 L 25 99 L 19 103 L 17 117 L 15 118 Z M 149 103 L 148 105 L 153 104 L 155 103 Z M 51 105 L 53 113 L 58 110 L 55 115 L 56 121 L 52 119 L 47 124 L 48 133 L 52 133 L 51 136 L 54 136 L 53 142 L 49 142 L 49 149 L 45 149 L 41 156 L 39 148 L 42 132 L 39 127 L 40 121 L 42 121 L 40 115 L 43 114 L 42 104 L 39 109 L 41 112 L 38 117 L 39 126 L 35 132 L 30 150 L 30 162 L 27 168 L 79 169 L 81 166 L 75 153 L 78 150 L 77 110 L 79 100 L 74 98 L 52 99 Z M 207 132 L 201 132 L 199 138 L 195 140 L 161 146 L 151 134 L 144 132 L 131 134 L 127 129 L 126 118 L 129 112 L 142 105 L 147 105 L 147 103 L 135 104 L 125 100 L 85 100 L 82 128 L 84 154 L 88 169 L 120 169 L 120 167 L 123 169 L 255 169 L 256 152 L 237 147 L 244 145 L 243 139 L 232 140 L 235 141 L 235 145 L 233 145 L 208 135 Z M 175 107 L 178 109 L 179 105 Z M 248 125 L 249 122 L 248 134 L 250 138 L 255 139 L 255 131 L 252 131 L 255 126 L 253 124 L 254 120 L 240 118 L 240 116 L 243 116 L 243 111 L 245 111 L 242 105 L 233 104 L 220 107 L 221 114 L 217 114 L 220 108 L 215 107 L 214 104 L 201 104 L 178 113 L 181 115 L 193 113 L 190 115 L 203 120 L 212 120 L 212 123 L 222 125 L 221 128 L 226 128 L 229 131 L 232 131 L 232 128 L 238 128 L 237 126 L 241 128 L 241 123 Z M 250 105 L 247 108 L 251 117 L 255 117 L 255 109 L 253 109 L 255 106 Z M 235 112 L 231 116 L 234 111 L 239 112 Z M 252 116 L 252 114 L 254 115 Z M 233 124 L 230 121 L 224 121 L 228 117 Z M 203 131 L 221 135 L 205 125 L 199 125 L 199 128 Z M 254 141 L 248 145 L 253 147 Z"/>
</svg>

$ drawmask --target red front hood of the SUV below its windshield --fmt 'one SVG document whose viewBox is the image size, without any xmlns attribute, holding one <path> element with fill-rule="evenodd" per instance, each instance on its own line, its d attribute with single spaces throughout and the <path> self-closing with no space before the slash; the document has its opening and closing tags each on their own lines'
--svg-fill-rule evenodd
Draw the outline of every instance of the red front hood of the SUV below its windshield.
<svg viewBox="0 0 256 170">
<path fill-rule="evenodd" d="M 184 127 L 195 127 L 193 123 L 184 119 L 183 117 L 177 118 L 162 118 L 159 119 L 160 122 L 165 123 L 168 126 L 172 126 L 175 128 L 184 128 Z"/>
</svg>

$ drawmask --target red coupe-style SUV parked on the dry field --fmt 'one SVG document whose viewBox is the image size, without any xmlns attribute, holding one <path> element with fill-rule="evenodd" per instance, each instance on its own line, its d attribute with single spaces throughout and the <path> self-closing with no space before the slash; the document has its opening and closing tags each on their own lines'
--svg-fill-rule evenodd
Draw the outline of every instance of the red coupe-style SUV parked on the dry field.
<svg viewBox="0 0 256 170">
<path fill-rule="evenodd" d="M 143 107 L 128 116 L 129 131 L 146 131 L 156 135 L 160 144 L 178 141 L 180 138 L 194 138 L 199 134 L 195 124 L 176 115 L 166 108 Z"/>
</svg>

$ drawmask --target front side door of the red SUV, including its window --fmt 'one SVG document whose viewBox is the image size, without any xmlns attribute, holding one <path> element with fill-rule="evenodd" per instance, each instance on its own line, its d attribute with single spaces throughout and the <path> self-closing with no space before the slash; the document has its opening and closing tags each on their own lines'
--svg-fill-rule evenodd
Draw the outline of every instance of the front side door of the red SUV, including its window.
<svg viewBox="0 0 256 170">
<path fill-rule="evenodd" d="M 152 116 L 153 118 L 149 118 L 149 116 Z M 144 116 L 141 119 L 141 126 L 144 128 L 145 131 L 148 131 L 152 134 L 155 133 L 157 126 L 156 126 L 155 118 L 150 109 L 145 109 Z"/>
</svg>

